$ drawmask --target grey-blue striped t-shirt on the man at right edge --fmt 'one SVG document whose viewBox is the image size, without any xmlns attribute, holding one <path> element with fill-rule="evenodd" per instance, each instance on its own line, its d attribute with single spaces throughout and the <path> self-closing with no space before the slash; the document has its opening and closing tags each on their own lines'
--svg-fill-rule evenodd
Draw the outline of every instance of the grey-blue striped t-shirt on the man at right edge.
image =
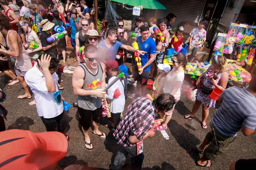
<svg viewBox="0 0 256 170">
<path fill-rule="evenodd" d="M 256 98 L 246 89 L 231 87 L 220 96 L 223 101 L 215 112 L 212 123 L 226 136 L 236 136 L 242 126 L 256 127 Z"/>
</svg>

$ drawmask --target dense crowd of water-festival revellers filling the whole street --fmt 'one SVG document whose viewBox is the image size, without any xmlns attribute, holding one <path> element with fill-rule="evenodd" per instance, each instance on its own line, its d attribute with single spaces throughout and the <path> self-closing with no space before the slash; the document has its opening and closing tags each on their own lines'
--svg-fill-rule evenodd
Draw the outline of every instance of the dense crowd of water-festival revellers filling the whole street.
<svg viewBox="0 0 256 170">
<path fill-rule="evenodd" d="M 73 62 L 79 62 L 72 78 L 73 92 L 78 96 L 73 106 L 78 108 L 85 148 L 93 150 L 89 135 L 91 124 L 92 134 L 106 139 L 106 134 L 100 130 L 100 124 L 104 119 L 104 110 L 109 107 L 107 121 L 110 123 L 107 126 L 114 129 L 113 136 L 120 145 L 110 169 L 121 169 L 130 154 L 130 168 L 140 170 L 144 159 L 143 140 L 154 137 L 155 132 L 151 128 L 156 119 L 165 121 L 157 130 L 168 128 L 175 105 L 180 100 L 187 56 L 183 53 L 174 54 L 172 68 L 169 64 L 163 64 L 166 48 L 177 49 L 183 44 L 183 27 L 180 26 L 177 33 L 172 31 L 171 24 L 175 22 L 176 16 L 170 13 L 160 20 L 152 17 L 148 22 L 149 26 L 140 16 L 134 24 L 135 35 L 129 38 L 123 29 L 122 18 L 117 19 L 113 28 L 109 28 L 108 20 L 103 19 L 102 30 L 98 33 L 92 19 L 94 9 L 87 6 L 85 0 L 81 0 L 81 3 L 77 0 L 67 0 L 67 3 L 52 0 L 49 4 L 41 0 L 0 0 L 0 5 L 3 7 L 3 13 L 0 13 L 1 71 L 12 78 L 9 85 L 20 82 L 23 86 L 25 94 L 18 96 L 19 99 L 32 98 L 29 93 L 29 88 L 31 89 L 35 101 L 30 104 L 36 105 L 38 116 L 47 130 L 45 133 L 4 131 L 6 128 L 2 113 L 0 131 L 4 132 L 0 133 L 0 147 L 3 151 L 0 168 L 12 169 L 17 165 L 23 165 L 25 169 L 60 168 L 56 162 L 65 156 L 67 141 L 72 140 L 62 134 L 68 121 L 64 112 L 65 99 L 61 94 L 63 87 L 59 85 L 62 81 L 59 62 L 63 58 L 61 62 L 66 63 L 65 48 L 69 41 L 67 34 L 58 41 L 50 41 L 49 37 L 67 30 L 70 31 L 70 43 L 76 54 Z M 205 23 L 205 20 L 201 20 L 198 28 L 190 33 L 190 61 L 206 40 Z M 155 26 L 159 27 L 164 41 L 159 41 L 155 36 Z M 9 65 L 9 57 L 15 57 L 15 74 Z M 127 59 L 131 59 L 133 65 L 130 75 L 125 65 Z M 138 60 L 141 69 L 137 67 Z M 201 167 L 210 167 L 211 161 L 227 150 L 240 129 L 245 136 L 250 136 L 256 127 L 256 77 L 252 78 L 247 89 L 226 89 L 228 74 L 224 68 L 225 63 L 224 56 L 213 57 L 212 66 L 197 79 L 198 91 L 193 109 L 184 116 L 185 119 L 193 119 L 202 104 L 201 127 L 207 129 L 209 108 L 215 107 L 216 102 L 209 95 L 213 88 L 222 91 L 218 99 L 221 107 L 211 120 L 211 131 L 196 148 L 198 153 L 203 154 L 196 161 L 196 165 Z M 148 79 L 154 77 L 155 68 L 157 76 L 153 84 L 152 101 L 145 96 Z M 121 73 L 124 75 L 119 77 Z M 116 77 L 119 77 L 117 81 Z M 127 78 L 137 81 L 134 94 L 128 95 Z M 108 85 L 112 86 L 104 90 Z M 134 98 L 134 101 L 128 106 L 127 112 L 123 113 L 127 97 Z M 0 91 L 0 102 L 5 99 L 6 94 Z M 13 141 L 16 141 L 15 144 Z M 2 149 L 2 145 L 5 149 Z M 12 151 L 6 149 L 9 147 Z M 53 148 L 54 152 L 51 151 Z M 15 156 L 19 156 L 19 159 Z M 44 160 L 44 164 L 40 160 Z M 244 162 L 247 161 L 237 161 L 232 166 L 242 167 Z M 82 168 L 71 165 L 67 170 Z"/>
</svg>

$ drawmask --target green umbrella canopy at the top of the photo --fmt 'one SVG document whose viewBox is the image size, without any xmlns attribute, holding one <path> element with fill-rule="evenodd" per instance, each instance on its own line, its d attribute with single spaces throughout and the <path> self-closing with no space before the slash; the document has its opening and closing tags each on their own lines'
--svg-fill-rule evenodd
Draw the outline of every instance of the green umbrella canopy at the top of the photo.
<svg viewBox="0 0 256 170">
<path fill-rule="evenodd" d="M 147 9 L 166 9 L 157 0 L 111 0 L 117 3 L 126 4 L 129 6 L 142 6 Z"/>
</svg>

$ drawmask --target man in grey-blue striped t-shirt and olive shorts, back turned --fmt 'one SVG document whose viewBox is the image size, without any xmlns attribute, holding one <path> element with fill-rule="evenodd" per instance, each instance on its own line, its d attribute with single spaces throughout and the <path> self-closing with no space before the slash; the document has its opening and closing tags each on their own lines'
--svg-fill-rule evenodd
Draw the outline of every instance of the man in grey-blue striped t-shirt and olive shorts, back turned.
<svg viewBox="0 0 256 170">
<path fill-rule="evenodd" d="M 212 118 L 213 129 L 207 133 L 204 142 L 197 148 L 204 155 L 196 162 L 198 166 L 210 167 L 211 161 L 224 153 L 239 130 L 245 136 L 254 133 L 256 127 L 256 76 L 249 87 L 231 87 L 222 92 L 218 101 L 221 107 Z M 207 145 L 209 146 L 205 148 Z M 218 146 L 217 146 L 218 144 Z"/>
</svg>

